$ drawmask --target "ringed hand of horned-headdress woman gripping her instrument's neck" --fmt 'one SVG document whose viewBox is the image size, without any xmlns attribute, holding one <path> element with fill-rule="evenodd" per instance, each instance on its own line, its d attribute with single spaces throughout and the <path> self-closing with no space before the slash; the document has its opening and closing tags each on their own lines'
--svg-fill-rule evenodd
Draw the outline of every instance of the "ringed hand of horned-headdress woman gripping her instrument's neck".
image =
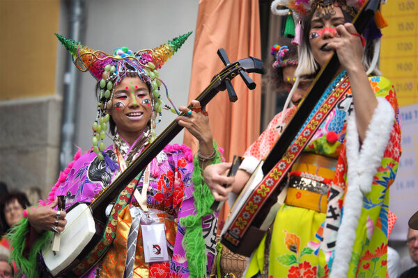
<svg viewBox="0 0 418 278">
<path fill-rule="evenodd" d="M 209 126 L 209 117 L 205 107 L 201 107 L 199 101 L 192 100 L 192 109 L 180 106 L 178 110 L 187 116 L 178 116 L 176 120 L 180 126 L 184 126 L 199 140 L 201 154 L 209 155 L 213 152 L 213 137 Z"/>
</svg>

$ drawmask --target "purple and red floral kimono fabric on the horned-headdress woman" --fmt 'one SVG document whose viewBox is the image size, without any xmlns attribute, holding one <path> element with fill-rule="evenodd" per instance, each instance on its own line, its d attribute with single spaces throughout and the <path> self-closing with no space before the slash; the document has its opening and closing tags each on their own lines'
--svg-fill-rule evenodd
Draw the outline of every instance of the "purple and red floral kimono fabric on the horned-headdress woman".
<svg viewBox="0 0 418 278">
<path fill-rule="evenodd" d="M 132 146 L 127 144 L 121 136 L 116 135 L 114 145 L 107 147 L 104 152 L 116 164 L 120 165 L 118 155 L 115 153 L 117 149 L 126 166 L 129 166 L 134 158 L 141 154 L 146 145 L 148 145 L 148 140 L 146 140 L 145 135 L 140 136 Z M 159 216 L 162 217 L 160 222 L 164 222 L 166 226 L 167 247 L 169 247 L 171 256 L 169 261 L 161 263 L 139 262 L 141 271 L 134 272 L 134 277 L 189 277 L 185 250 L 182 245 L 185 228 L 180 225 L 179 220 L 196 213 L 192 183 L 194 167 L 192 161 L 189 160 L 190 154 L 191 150 L 185 145 L 171 145 L 164 148 L 163 152 L 158 154 L 150 163 L 147 203 L 150 208 L 164 209 L 162 211 L 164 213 L 160 213 Z M 94 152 L 89 152 L 75 161 L 67 179 L 64 183 L 61 183 L 55 195 L 65 195 L 65 209 L 77 202 L 91 202 L 91 199 L 98 195 L 100 190 L 109 186 L 111 181 L 114 181 L 119 174 L 121 174 L 121 167 L 118 170 L 111 171 L 104 161 L 97 158 Z M 140 192 L 143 181 L 144 177 L 141 177 L 138 185 Z M 167 212 L 171 213 L 169 218 L 167 218 L 169 216 Z M 207 231 L 203 236 L 207 243 L 207 270 L 210 272 L 215 258 L 217 218 L 214 215 L 208 215 L 203 218 L 202 222 L 203 231 Z M 142 240 L 140 239 L 138 242 L 141 243 Z M 123 252 L 123 250 L 119 251 Z M 118 254 L 112 253 L 111 256 L 118 257 Z M 125 259 L 123 259 L 124 261 Z M 98 271 L 98 268 L 95 267 L 85 273 L 83 277 L 118 277 L 114 275 L 114 273 L 109 272 L 109 268 L 102 268 L 101 271 Z"/>
</svg>

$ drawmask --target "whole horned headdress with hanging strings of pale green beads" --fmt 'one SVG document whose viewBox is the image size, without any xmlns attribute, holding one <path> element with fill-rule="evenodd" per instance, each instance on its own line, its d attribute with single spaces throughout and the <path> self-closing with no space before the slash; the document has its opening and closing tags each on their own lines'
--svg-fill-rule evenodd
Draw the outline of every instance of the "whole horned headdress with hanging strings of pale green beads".
<svg viewBox="0 0 418 278">
<path fill-rule="evenodd" d="M 162 108 L 178 114 L 176 107 L 169 98 L 167 86 L 159 78 L 160 74 L 157 70 L 159 70 L 162 65 L 178 51 L 178 49 L 180 49 L 191 33 L 192 32 L 180 35 L 154 49 L 133 52 L 127 47 L 121 47 L 114 51 L 114 55 L 106 54 L 100 50 L 95 51 L 79 42 L 75 42 L 75 40 L 65 38 L 63 35 L 55 34 L 65 49 L 72 55 L 72 61 L 77 69 L 82 72 L 90 72 L 99 83 L 100 95 L 97 106 L 98 114 L 92 126 L 92 143 L 93 151 L 98 155 L 100 160 L 103 160 L 107 156 L 103 152 L 103 139 L 106 138 L 107 124 L 110 119 L 107 111 L 111 108 L 114 88 L 118 83 L 121 83 L 127 72 L 137 73 L 141 81 L 150 86 L 150 97 L 153 106 L 153 115 L 151 117 L 152 138 L 155 138 L 156 136 L 155 119 L 157 115 L 160 115 L 161 117 Z M 172 108 L 167 104 L 164 104 L 161 100 L 161 85 L 164 85 L 167 98 L 173 106 Z M 158 122 L 160 121 L 161 120 Z M 105 161 L 107 160 L 108 159 L 105 159 Z"/>
</svg>

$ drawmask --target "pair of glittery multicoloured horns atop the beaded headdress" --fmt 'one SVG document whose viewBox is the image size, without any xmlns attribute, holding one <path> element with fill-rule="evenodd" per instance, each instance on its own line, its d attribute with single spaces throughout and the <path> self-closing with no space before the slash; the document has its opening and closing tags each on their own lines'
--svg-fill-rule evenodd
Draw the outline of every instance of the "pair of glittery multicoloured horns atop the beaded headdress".
<svg viewBox="0 0 418 278">
<path fill-rule="evenodd" d="M 169 42 L 161 44 L 160 47 L 156 47 L 155 49 L 140 50 L 135 54 L 132 51 L 127 50 L 127 47 L 122 47 L 122 50 L 126 48 L 125 54 L 118 55 L 115 53 L 115 56 L 106 54 L 100 50 L 95 51 L 79 42 L 75 42 L 75 40 L 65 38 L 63 35 L 55 35 L 65 49 L 72 55 L 75 66 L 82 72 L 91 72 L 95 79 L 99 81 L 102 79 L 104 67 L 108 64 L 117 64 L 120 60 L 132 60 L 133 63 L 137 62 L 136 64 L 142 68 L 148 67 L 148 62 L 151 62 L 155 64 L 157 69 L 160 69 L 162 65 L 164 65 L 164 63 L 180 49 L 190 34 L 192 34 L 192 32 L 173 38 L 173 40 L 169 40 Z"/>
</svg>

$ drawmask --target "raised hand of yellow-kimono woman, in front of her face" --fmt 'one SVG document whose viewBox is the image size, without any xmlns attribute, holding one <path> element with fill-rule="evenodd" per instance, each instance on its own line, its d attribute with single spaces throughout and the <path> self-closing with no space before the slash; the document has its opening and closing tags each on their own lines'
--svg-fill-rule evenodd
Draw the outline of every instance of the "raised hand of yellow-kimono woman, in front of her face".
<svg viewBox="0 0 418 278">
<path fill-rule="evenodd" d="M 364 38 L 351 23 L 336 26 L 336 35 L 328 44 L 327 49 L 334 49 L 338 59 L 348 72 L 363 69 Z"/>
</svg>

